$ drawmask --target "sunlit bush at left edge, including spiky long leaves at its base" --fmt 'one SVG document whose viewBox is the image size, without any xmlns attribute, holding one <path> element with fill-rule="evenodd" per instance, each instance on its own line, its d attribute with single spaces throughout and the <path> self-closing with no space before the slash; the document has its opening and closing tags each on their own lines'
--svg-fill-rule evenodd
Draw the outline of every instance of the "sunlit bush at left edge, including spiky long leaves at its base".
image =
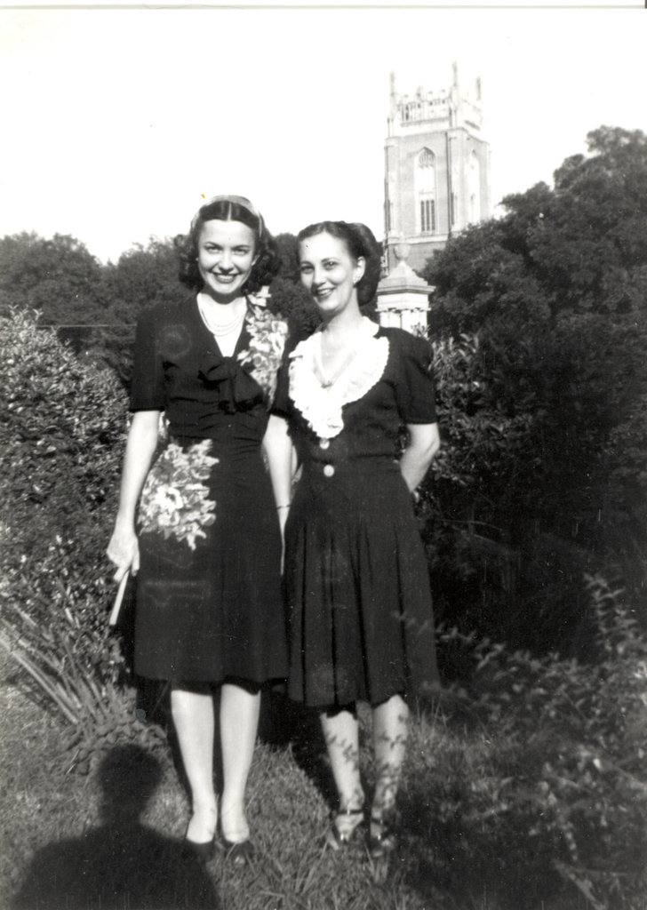
<svg viewBox="0 0 647 910">
<path fill-rule="evenodd" d="M 112 374 L 81 363 L 32 315 L 14 312 L 1 334 L 0 644 L 22 682 L 76 727 L 69 744 L 85 763 L 116 731 L 146 735 L 106 629 L 126 401 Z"/>
</svg>

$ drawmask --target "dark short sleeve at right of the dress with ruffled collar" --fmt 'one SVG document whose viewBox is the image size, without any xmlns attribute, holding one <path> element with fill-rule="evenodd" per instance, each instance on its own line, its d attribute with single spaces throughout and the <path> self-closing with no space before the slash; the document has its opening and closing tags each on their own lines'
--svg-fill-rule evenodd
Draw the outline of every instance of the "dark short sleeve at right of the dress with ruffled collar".
<svg viewBox="0 0 647 910">
<path fill-rule="evenodd" d="M 431 346 L 402 331 L 396 399 L 405 423 L 436 423 L 436 389 L 431 372 Z"/>
</svg>

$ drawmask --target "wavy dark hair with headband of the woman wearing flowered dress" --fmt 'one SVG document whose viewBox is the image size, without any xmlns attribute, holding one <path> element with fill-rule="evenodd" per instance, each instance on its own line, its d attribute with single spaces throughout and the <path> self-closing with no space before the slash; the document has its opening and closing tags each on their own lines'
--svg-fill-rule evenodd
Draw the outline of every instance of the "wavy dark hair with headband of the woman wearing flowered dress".
<svg viewBox="0 0 647 910">
<path fill-rule="evenodd" d="M 257 259 L 242 289 L 246 294 L 254 294 L 264 285 L 268 285 L 278 273 L 280 264 L 278 248 L 268 228 L 265 227 L 260 212 L 243 196 L 217 196 L 211 199 L 198 209 L 188 234 L 179 234 L 175 238 L 179 256 L 178 278 L 182 284 L 191 290 L 201 290 L 204 287 L 204 281 L 197 268 L 197 245 L 202 227 L 207 221 L 242 221 L 251 227 L 254 231 Z"/>
</svg>

